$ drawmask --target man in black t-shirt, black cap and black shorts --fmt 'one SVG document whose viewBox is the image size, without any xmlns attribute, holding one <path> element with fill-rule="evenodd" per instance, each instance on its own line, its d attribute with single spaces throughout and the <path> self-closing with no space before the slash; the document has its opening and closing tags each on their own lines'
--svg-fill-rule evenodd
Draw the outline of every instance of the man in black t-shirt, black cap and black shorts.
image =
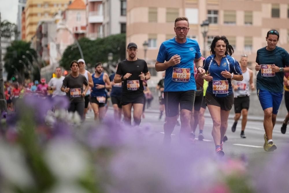
<svg viewBox="0 0 289 193">
<path fill-rule="evenodd" d="M 123 81 L 121 104 L 125 124 L 131 125 L 131 108 L 134 107 L 134 123 L 139 125 L 144 102 L 143 80 L 149 80 L 151 75 L 146 61 L 138 59 L 138 46 L 135 43 L 127 45 L 128 58 L 118 64 L 114 77 L 115 83 Z"/>
</svg>

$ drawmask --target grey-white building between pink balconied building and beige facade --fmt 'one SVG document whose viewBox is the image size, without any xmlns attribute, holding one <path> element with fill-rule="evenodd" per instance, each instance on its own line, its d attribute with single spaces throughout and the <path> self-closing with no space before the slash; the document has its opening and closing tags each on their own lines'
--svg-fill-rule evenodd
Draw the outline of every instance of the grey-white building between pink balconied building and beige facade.
<svg viewBox="0 0 289 193">
<path fill-rule="evenodd" d="M 103 35 L 126 32 L 126 0 L 103 0 Z"/>
</svg>

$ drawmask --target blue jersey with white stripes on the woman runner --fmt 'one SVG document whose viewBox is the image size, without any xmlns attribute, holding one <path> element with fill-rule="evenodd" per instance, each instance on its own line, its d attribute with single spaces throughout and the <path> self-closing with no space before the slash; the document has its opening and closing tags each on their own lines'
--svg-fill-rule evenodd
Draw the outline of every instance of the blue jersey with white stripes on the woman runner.
<svg viewBox="0 0 289 193">
<path fill-rule="evenodd" d="M 242 70 L 240 68 L 240 65 L 238 61 L 236 61 L 232 56 L 227 55 L 221 59 L 220 66 L 218 66 L 218 63 L 214 59 L 215 55 L 208 56 L 204 60 L 204 69 L 205 71 L 208 71 L 210 76 L 213 77 L 213 80 L 209 82 L 207 92 L 213 94 L 213 81 L 214 80 L 228 80 L 229 89 L 228 93 L 216 93 L 216 97 L 226 97 L 230 94 L 233 94 L 232 84 L 231 84 L 231 78 L 225 78 L 221 75 L 222 71 L 229 71 L 230 73 L 234 74 L 242 74 Z"/>
</svg>

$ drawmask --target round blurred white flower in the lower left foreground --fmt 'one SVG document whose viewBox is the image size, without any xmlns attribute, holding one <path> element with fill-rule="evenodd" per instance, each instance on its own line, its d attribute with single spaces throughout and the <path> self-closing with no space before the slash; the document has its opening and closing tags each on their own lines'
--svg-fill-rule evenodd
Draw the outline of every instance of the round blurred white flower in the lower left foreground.
<svg viewBox="0 0 289 193">
<path fill-rule="evenodd" d="M 71 140 L 52 140 L 47 146 L 45 157 L 51 171 L 60 180 L 77 179 L 86 170 L 86 153 L 80 145 Z"/>
</svg>

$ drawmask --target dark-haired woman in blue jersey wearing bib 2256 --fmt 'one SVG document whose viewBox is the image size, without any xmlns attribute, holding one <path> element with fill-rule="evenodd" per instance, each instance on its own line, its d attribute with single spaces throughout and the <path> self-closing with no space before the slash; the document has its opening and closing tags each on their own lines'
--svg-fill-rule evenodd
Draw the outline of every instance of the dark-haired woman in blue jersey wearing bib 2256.
<svg viewBox="0 0 289 193">
<path fill-rule="evenodd" d="M 234 49 L 225 36 L 214 37 L 210 52 L 212 55 L 204 60 L 204 69 L 207 71 L 204 79 L 209 82 L 206 103 L 213 120 L 212 136 L 216 153 L 223 156 L 223 137 L 234 102 L 231 79 L 243 80 L 243 75 L 238 61 L 231 57 Z"/>
</svg>

